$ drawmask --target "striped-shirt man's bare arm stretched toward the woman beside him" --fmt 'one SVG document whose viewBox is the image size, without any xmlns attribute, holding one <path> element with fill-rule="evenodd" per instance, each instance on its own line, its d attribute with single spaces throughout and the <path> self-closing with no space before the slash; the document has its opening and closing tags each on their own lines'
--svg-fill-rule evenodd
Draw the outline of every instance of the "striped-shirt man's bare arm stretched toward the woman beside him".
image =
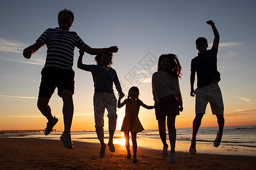
<svg viewBox="0 0 256 170">
<path fill-rule="evenodd" d="M 90 55 L 116 53 L 118 51 L 117 46 L 110 46 L 109 48 L 90 48 L 89 45 L 85 45 L 81 48 L 85 53 Z"/>
</svg>

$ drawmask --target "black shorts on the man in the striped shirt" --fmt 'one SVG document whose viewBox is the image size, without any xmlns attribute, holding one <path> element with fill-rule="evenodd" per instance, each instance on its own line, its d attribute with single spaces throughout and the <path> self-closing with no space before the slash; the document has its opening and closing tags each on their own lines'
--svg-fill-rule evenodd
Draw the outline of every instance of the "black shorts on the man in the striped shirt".
<svg viewBox="0 0 256 170">
<path fill-rule="evenodd" d="M 44 67 L 41 71 L 42 79 L 39 87 L 38 97 L 52 96 L 55 88 L 61 97 L 63 90 L 75 91 L 75 72 L 68 69 L 57 69 L 56 67 Z"/>
</svg>

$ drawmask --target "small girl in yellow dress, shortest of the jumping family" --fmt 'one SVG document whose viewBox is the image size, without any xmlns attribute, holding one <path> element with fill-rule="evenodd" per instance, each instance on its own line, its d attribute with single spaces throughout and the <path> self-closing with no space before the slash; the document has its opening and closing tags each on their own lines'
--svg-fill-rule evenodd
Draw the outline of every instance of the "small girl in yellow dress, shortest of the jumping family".
<svg viewBox="0 0 256 170">
<path fill-rule="evenodd" d="M 139 107 L 142 106 L 146 109 L 154 109 L 154 106 L 148 106 L 139 100 L 138 87 L 131 87 L 128 92 L 128 98 L 121 103 L 122 96 L 119 96 L 117 107 L 121 108 L 126 105 L 125 117 L 121 131 L 125 134 L 125 146 L 127 149 L 127 159 L 131 158 L 129 131 L 131 132 L 131 141 L 133 142 L 133 163 L 138 163 L 137 160 L 137 133 L 144 130 L 141 122 L 139 121 Z"/>
</svg>

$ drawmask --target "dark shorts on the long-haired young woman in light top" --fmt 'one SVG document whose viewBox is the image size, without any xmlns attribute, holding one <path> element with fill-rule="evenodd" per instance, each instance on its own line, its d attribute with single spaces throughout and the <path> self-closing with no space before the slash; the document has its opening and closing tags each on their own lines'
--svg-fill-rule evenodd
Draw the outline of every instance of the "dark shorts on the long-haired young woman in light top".
<svg viewBox="0 0 256 170">
<path fill-rule="evenodd" d="M 165 118 L 166 116 L 175 116 L 180 114 L 180 103 L 175 95 L 168 95 L 159 99 L 161 102 L 159 107 L 155 108 L 156 120 Z"/>
</svg>

